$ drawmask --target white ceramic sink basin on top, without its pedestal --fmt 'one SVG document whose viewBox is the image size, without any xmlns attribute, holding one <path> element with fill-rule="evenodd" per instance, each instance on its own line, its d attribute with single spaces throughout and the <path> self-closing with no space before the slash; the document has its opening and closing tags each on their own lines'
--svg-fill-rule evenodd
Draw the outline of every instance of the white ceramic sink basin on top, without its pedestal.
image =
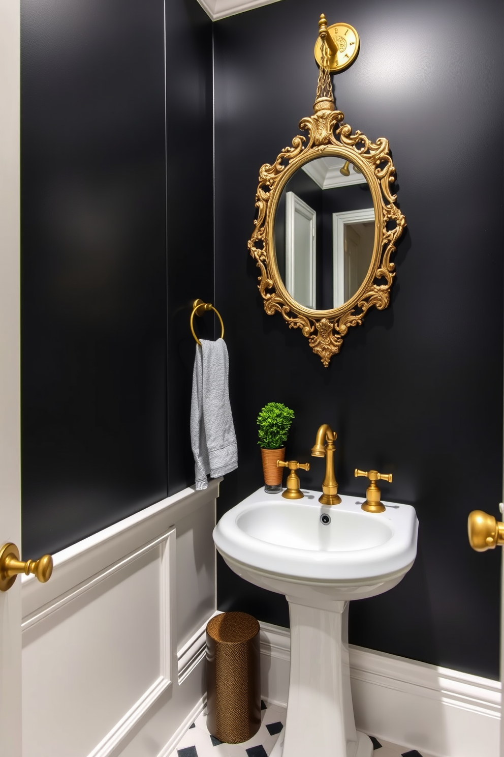
<svg viewBox="0 0 504 757">
<path fill-rule="evenodd" d="M 215 546 L 238 575 L 280 593 L 306 597 L 316 585 L 327 600 L 363 599 L 399 583 L 416 556 L 413 507 L 385 502 L 385 512 L 371 513 L 357 497 L 332 506 L 318 497 L 260 489 L 221 518 Z"/>
</svg>

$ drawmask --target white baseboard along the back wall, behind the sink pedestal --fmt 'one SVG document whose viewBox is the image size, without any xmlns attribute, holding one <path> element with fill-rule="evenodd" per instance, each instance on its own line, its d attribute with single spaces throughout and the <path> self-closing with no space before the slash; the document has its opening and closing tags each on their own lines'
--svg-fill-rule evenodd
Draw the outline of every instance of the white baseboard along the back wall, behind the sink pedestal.
<svg viewBox="0 0 504 757">
<path fill-rule="evenodd" d="M 286 705 L 288 628 L 261 623 L 261 692 Z M 499 754 L 501 684 L 350 646 L 357 728 L 435 757 Z"/>
</svg>

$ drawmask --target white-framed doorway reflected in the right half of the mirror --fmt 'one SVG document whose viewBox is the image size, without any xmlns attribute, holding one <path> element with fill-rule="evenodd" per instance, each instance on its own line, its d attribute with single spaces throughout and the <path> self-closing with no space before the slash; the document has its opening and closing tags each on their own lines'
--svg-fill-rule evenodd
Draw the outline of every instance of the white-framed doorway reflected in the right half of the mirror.
<svg viewBox="0 0 504 757">
<path fill-rule="evenodd" d="M 375 239 L 375 209 L 332 213 L 334 307 L 340 307 L 366 278 Z"/>
</svg>

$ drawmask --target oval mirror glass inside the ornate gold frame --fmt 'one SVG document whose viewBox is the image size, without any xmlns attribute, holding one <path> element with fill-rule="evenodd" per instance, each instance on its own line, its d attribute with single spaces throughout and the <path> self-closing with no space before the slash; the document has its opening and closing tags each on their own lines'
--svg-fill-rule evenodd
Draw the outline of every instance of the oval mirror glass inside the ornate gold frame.
<svg viewBox="0 0 504 757">
<path fill-rule="evenodd" d="M 359 168 L 317 157 L 283 188 L 274 225 L 277 266 L 293 300 L 333 310 L 351 299 L 373 257 L 375 211 Z"/>
</svg>

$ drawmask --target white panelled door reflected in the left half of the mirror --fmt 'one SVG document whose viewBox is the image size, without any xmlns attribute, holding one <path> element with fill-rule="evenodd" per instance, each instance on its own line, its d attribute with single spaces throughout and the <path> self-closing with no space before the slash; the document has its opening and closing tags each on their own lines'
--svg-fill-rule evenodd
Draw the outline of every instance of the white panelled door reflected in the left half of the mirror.
<svg viewBox="0 0 504 757">
<path fill-rule="evenodd" d="M 317 213 L 294 192 L 286 192 L 286 290 L 315 309 Z"/>
</svg>

